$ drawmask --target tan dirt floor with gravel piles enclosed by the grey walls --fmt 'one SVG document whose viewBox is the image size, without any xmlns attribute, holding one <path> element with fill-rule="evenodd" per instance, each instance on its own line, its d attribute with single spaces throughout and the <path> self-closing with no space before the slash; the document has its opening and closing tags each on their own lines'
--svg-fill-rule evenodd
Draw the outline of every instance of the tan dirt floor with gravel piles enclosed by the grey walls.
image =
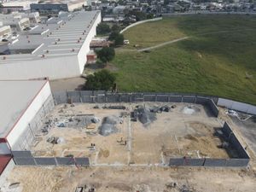
<svg viewBox="0 0 256 192">
<path fill-rule="evenodd" d="M 161 109 L 161 110 L 160 110 Z M 143 113 L 131 118 L 131 112 Z M 236 157 L 220 148 L 222 125 L 202 105 L 189 103 L 61 104 L 48 117 L 35 156 L 89 157 L 90 165 L 167 165 L 170 157 Z"/>
</svg>

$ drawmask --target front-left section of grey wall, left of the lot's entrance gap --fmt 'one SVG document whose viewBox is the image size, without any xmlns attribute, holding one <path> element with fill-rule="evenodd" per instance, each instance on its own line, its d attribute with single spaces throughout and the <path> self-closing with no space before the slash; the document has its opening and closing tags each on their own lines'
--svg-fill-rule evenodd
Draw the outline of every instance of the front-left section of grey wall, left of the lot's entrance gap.
<svg viewBox="0 0 256 192">
<path fill-rule="evenodd" d="M 34 157 L 31 151 L 12 151 L 18 166 L 90 166 L 87 157 Z"/>
</svg>

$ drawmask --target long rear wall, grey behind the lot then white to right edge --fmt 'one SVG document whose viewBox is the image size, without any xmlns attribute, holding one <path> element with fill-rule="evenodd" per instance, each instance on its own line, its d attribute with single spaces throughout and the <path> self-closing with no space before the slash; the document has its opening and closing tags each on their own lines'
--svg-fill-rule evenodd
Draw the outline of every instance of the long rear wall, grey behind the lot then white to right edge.
<svg viewBox="0 0 256 192">
<path fill-rule="evenodd" d="M 218 96 L 203 96 L 197 94 L 183 93 L 112 93 L 104 90 L 76 90 L 76 91 L 61 91 L 53 93 L 55 104 L 72 102 L 190 102 L 198 104 L 206 104 L 209 99 L 218 105 L 225 108 L 234 109 L 242 113 L 250 113 L 256 115 L 256 106 L 251 104 L 236 102 L 229 99 L 218 98 Z M 208 102 L 208 105 L 212 103 Z M 215 107 L 214 107 L 215 108 Z M 217 108 L 217 107 L 216 107 Z M 213 108 L 212 108 L 213 109 Z M 215 114 L 217 110 L 214 109 Z"/>
</svg>

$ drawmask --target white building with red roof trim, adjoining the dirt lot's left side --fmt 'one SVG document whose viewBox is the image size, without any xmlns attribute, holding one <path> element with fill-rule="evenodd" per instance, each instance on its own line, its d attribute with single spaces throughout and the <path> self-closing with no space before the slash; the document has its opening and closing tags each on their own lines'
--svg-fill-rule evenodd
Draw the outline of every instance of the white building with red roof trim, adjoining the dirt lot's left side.
<svg viewBox="0 0 256 192">
<path fill-rule="evenodd" d="M 0 183 L 13 167 L 12 150 L 28 149 L 46 113 L 54 108 L 49 81 L 0 81 Z"/>
</svg>

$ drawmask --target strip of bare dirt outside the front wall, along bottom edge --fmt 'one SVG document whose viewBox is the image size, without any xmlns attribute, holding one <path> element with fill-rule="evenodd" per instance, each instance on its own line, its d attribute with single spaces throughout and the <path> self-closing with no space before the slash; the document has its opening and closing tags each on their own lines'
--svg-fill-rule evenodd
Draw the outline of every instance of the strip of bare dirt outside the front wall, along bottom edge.
<svg viewBox="0 0 256 192">
<path fill-rule="evenodd" d="M 254 192 L 255 176 L 253 171 L 217 168 L 16 166 L 6 185 L 19 183 L 12 191 L 22 192 L 76 192 L 84 186 L 83 192 Z"/>
</svg>

